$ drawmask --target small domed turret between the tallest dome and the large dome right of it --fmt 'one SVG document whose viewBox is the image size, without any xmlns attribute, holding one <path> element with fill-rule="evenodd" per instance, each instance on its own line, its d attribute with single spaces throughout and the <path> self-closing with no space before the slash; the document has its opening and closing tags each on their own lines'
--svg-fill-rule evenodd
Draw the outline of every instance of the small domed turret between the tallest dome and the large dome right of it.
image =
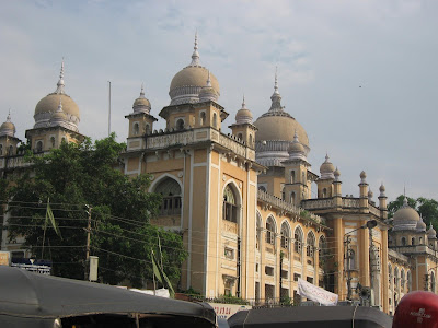
<svg viewBox="0 0 438 328">
<path fill-rule="evenodd" d="M 235 124 L 229 128 L 238 140 L 254 149 L 257 128 L 253 125 L 253 114 L 246 108 L 245 95 L 243 95 L 242 107 L 235 114 Z"/>
</svg>

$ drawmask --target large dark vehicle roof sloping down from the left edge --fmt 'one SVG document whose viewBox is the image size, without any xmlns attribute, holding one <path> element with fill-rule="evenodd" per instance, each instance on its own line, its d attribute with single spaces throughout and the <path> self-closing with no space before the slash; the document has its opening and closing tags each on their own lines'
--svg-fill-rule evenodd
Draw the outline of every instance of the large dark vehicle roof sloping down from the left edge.
<svg viewBox="0 0 438 328">
<path fill-rule="evenodd" d="M 215 311 L 99 283 L 0 266 L 0 326 L 13 318 L 57 318 L 89 314 L 153 314 L 198 317 L 215 324 Z"/>
</svg>

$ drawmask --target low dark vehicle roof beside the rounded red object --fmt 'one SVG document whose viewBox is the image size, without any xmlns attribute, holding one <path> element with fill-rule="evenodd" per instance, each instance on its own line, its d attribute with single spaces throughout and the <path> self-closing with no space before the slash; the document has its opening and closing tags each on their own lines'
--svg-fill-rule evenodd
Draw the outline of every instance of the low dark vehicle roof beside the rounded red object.
<svg viewBox="0 0 438 328">
<path fill-rule="evenodd" d="M 230 328 L 391 328 L 392 318 L 370 307 L 292 306 L 240 311 L 228 319 L 228 324 Z"/>
</svg>

